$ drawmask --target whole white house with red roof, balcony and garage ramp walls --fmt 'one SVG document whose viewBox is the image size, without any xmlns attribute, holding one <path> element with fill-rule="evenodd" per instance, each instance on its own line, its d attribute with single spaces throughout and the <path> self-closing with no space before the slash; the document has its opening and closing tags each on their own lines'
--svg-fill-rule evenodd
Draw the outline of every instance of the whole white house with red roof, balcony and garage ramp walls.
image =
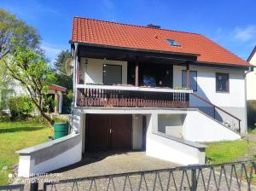
<svg viewBox="0 0 256 191">
<path fill-rule="evenodd" d="M 19 151 L 19 176 L 109 150 L 203 164 L 198 142 L 247 132 L 250 65 L 205 36 L 75 17 L 70 43 L 73 134 Z"/>
</svg>

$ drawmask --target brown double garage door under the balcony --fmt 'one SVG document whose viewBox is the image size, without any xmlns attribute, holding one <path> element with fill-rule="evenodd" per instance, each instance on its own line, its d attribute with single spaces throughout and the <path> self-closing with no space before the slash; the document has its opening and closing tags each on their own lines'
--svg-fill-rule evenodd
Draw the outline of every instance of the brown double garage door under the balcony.
<svg viewBox="0 0 256 191">
<path fill-rule="evenodd" d="M 87 152 L 131 149 L 131 115 L 88 114 Z"/>
</svg>

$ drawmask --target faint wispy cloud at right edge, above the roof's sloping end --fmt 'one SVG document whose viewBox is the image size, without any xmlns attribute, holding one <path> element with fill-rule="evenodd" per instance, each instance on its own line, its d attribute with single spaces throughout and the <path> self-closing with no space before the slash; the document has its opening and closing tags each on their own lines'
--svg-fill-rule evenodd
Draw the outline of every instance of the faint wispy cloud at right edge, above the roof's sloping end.
<svg viewBox="0 0 256 191">
<path fill-rule="evenodd" d="M 256 26 L 247 26 L 244 28 L 236 27 L 234 38 L 241 41 L 249 41 L 256 37 Z"/>
</svg>

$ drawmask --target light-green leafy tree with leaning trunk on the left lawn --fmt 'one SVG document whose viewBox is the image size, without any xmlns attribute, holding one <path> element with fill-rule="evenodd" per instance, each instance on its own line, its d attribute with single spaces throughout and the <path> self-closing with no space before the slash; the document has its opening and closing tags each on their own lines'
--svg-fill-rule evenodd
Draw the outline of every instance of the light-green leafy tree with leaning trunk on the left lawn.
<svg viewBox="0 0 256 191">
<path fill-rule="evenodd" d="M 38 112 L 49 124 L 54 124 L 49 114 L 44 112 L 44 107 L 49 105 L 46 99 L 49 83 L 55 78 L 44 55 L 28 47 L 16 47 L 15 54 L 6 56 L 3 62 L 8 75 L 26 88 Z"/>
</svg>

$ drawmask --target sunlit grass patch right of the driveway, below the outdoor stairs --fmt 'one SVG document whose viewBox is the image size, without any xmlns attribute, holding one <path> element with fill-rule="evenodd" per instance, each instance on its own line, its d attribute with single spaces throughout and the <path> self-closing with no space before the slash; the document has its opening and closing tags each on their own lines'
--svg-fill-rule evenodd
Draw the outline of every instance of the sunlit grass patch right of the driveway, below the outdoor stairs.
<svg viewBox="0 0 256 191">
<path fill-rule="evenodd" d="M 207 143 L 206 156 L 211 163 L 224 163 L 243 158 L 256 142 L 244 140 Z"/>
</svg>

